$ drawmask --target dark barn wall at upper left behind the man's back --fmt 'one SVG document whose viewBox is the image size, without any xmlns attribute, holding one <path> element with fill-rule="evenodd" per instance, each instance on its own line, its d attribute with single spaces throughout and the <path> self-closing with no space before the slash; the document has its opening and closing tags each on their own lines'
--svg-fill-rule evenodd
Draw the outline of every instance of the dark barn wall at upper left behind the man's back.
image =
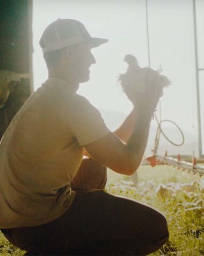
<svg viewBox="0 0 204 256">
<path fill-rule="evenodd" d="M 0 1 L 0 139 L 33 91 L 32 0 Z M 5 72 L 6 71 L 6 72 Z M 20 81 L 5 84 L 5 73 Z M 5 95 L 9 95 L 5 100 Z"/>
</svg>

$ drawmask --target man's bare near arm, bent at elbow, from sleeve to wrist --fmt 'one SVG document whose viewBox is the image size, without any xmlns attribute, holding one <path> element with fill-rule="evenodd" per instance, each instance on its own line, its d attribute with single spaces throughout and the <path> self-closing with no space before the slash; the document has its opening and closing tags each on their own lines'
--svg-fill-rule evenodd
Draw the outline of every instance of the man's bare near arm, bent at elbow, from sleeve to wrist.
<svg viewBox="0 0 204 256">
<path fill-rule="evenodd" d="M 127 144 L 110 133 L 85 146 L 88 153 L 98 162 L 119 174 L 132 175 L 140 166 L 147 140 L 152 113 L 137 112 L 132 135 Z"/>
</svg>

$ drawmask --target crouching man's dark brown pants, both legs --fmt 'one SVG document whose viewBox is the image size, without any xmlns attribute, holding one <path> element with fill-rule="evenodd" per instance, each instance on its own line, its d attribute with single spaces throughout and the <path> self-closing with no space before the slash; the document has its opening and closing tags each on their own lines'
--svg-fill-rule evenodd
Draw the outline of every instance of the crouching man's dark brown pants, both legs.
<svg viewBox="0 0 204 256">
<path fill-rule="evenodd" d="M 87 161 L 100 168 L 98 184 L 102 186 L 106 169 Z M 160 212 L 135 200 L 112 196 L 101 188 L 77 190 L 70 209 L 53 222 L 3 232 L 13 245 L 36 253 L 28 255 L 147 255 L 169 237 L 166 219 Z"/>
</svg>

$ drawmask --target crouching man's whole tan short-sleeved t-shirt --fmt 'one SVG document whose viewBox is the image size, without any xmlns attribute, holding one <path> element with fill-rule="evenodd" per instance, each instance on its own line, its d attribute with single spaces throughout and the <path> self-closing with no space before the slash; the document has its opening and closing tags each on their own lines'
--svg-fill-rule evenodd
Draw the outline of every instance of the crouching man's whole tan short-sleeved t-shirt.
<svg viewBox="0 0 204 256">
<path fill-rule="evenodd" d="M 49 78 L 14 116 L 0 143 L 0 229 L 61 216 L 84 147 L 110 133 L 99 111 L 67 82 Z"/>
</svg>

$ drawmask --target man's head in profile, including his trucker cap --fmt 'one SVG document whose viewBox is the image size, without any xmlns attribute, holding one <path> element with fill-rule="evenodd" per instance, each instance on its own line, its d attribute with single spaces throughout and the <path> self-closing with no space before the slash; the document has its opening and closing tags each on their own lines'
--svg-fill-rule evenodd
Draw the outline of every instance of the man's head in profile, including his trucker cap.
<svg viewBox="0 0 204 256">
<path fill-rule="evenodd" d="M 106 42 L 107 39 L 91 37 L 77 20 L 57 19 L 43 32 L 40 46 L 49 73 L 58 72 L 78 84 L 89 80 L 89 68 L 96 63 L 91 49 Z"/>
</svg>

